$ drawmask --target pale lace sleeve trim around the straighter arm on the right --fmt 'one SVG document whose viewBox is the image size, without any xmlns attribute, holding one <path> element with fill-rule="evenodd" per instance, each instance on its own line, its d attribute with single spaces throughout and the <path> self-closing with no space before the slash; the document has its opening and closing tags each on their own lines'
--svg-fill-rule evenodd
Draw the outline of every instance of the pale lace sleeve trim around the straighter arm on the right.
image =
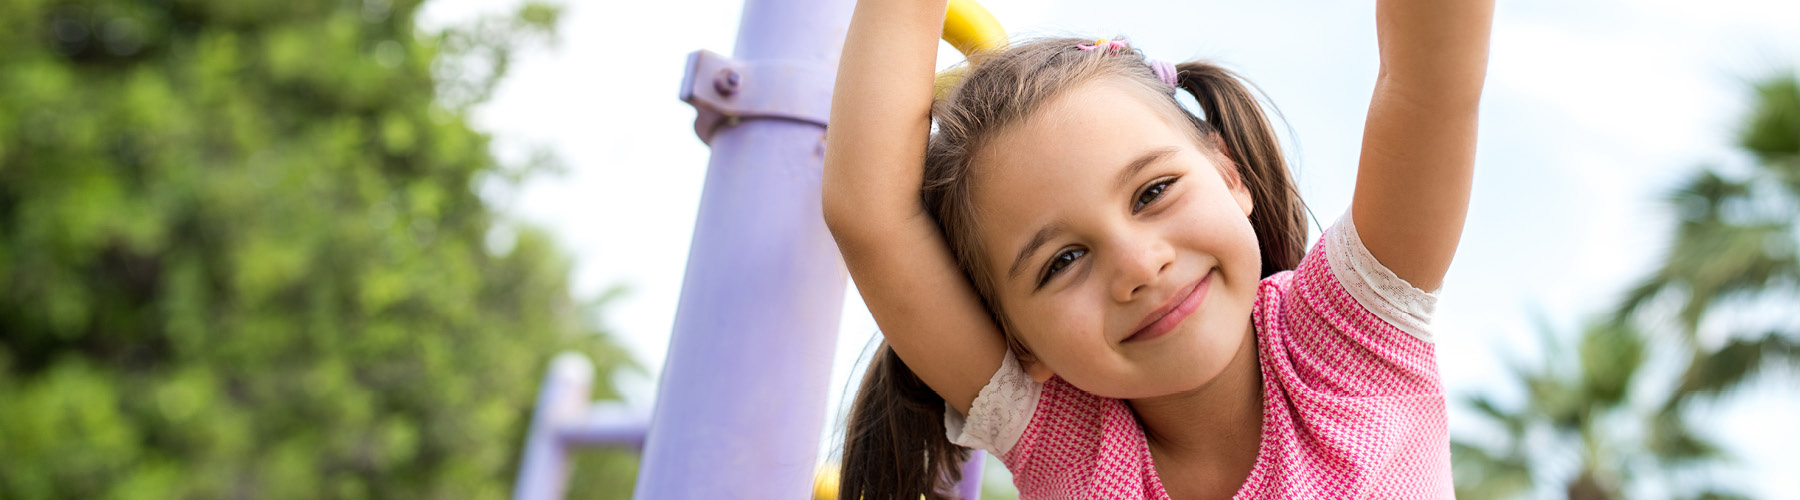
<svg viewBox="0 0 1800 500">
<path fill-rule="evenodd" d="M 1363 309 L 1418 340 L 1433 342 L 1431 311 L 1438 304 L 1442 288 L 1438 291 L 1413 288 L 1375 261 L 1368 246 L 1363 246 L 1363 237 L 1355 234 L 1350 210 L 1325 232 L 1325 257 L 1330 261 L 1332 275 L 1357 304 L 1363 304 Z"/>
</svg>

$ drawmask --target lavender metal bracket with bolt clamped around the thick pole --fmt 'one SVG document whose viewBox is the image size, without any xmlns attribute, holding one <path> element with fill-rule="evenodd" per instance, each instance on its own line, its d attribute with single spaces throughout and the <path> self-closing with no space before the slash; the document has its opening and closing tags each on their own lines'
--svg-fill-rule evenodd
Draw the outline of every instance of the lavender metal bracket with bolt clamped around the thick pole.
<svg viewBox="0 0 1800 500">
<path fill-rule="evenodd" d="M 720 126 L 788 119 L 824 126 L 832 117 L 833 68 L 805 61 L 736 61 L 711 50 L 688 54 L 680 101 L 693 104 L 693 133 L 713 144 Z"/>
</svg>

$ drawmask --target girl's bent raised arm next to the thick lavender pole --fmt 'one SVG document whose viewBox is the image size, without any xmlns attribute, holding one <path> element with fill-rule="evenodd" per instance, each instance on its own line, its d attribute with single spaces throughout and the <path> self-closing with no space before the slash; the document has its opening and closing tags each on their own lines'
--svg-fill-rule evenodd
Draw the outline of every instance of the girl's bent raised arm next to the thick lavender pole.
<svg viewBox="0 0 1800 500">
<path fill-rule="evenodd" d="M 824 138 L 824 221 L 887 345 L 959 412 L 1006 342 L 920 200 L 947 0 L 862 0 Z"/>
</svg>

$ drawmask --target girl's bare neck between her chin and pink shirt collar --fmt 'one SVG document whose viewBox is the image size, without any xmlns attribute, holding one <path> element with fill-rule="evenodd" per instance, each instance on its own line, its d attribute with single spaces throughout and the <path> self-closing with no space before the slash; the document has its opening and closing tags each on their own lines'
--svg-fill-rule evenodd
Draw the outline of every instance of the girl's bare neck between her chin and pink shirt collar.
<svg viewBox="0 0 1800 500">
<path fill-rule="evenodd" d="M 1255 322 L 1224 372 L 1193 390 L 1129 399 L 1157 462 L 1247 471 L 1262 446 L 1262 363 Z"/>
</svg>

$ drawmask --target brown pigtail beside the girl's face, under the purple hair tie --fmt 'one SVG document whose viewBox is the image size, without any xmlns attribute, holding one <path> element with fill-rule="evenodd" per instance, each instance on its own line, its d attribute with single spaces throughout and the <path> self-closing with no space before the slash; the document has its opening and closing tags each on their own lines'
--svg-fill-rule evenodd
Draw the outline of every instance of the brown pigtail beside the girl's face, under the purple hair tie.
<svg viewBox="0 0 1800 500">
<path fill-rule="evenodd" d="M 1300 191 L 1282 158 L 1282 142 L 1269 126 L 1256 95 L 1226 68 L 1210 63 L 1181 63 L 1175 83 L 1206 112 L 1195 122 L 1201 137 L 1220 147 L 1249 187 L 1253 209 L 1249 225 L 1262 246 L 1262 277 L 1300 266 L 1307 254 L 1307 218 Z"/>
</svg>

